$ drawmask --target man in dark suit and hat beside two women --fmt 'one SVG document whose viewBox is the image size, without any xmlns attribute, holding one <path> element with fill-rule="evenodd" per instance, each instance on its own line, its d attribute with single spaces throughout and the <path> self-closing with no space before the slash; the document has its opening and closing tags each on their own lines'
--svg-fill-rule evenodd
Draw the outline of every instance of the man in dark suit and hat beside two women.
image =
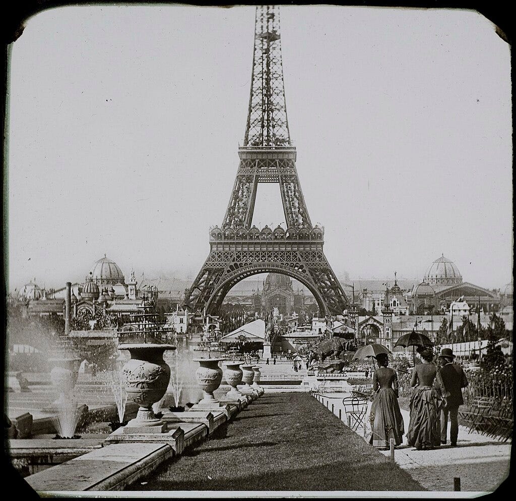
<svg viewBox="0 0 516 501">
<path fill-rule="evenodd" d="M 462 367 L 454 363 L 455 355 L 450 348 L 443 348 L 439 356 L 441 368 L 437 373 L 437 381 L 441 388 L 444 406 L 441 409 L 441 444 L 446 444 L 448 415 L 450 418 L 450 445 L 457 445 L 459 434 L 459 405 L 464 403 L 462 388 L 467 386 L 467 379 Z"/>
</svg>

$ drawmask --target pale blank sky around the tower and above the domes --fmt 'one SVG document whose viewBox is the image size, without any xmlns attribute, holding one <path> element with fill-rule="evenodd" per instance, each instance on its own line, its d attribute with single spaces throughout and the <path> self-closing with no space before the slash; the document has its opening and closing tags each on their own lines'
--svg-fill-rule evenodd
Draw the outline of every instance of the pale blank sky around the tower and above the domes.
<svg viewBox="0 0 516 501">
<path fill-rule="evenodd" d="M 238 166 L 254 8 L 66 7 L 12 48 L 10 289 L 130 274 L 193 278 Z M 289 128 L 337 276 L 511 277 L 510 53 L 480 14 L 281 9 Z M 263 189 L 262 189 L 263 188 Z M 284 220 L 260 185 L 253 223 Z"/>
</svg>

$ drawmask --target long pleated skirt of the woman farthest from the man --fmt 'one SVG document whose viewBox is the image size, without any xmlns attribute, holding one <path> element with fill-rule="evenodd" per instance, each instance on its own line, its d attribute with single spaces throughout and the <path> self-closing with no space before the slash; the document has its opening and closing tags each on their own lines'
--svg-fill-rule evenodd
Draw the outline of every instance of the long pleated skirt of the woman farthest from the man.
<svg viewBox="0 0 516 501">
<path fill-rule="evenodd" d="M 392 388 L 380 388 L 371 404 L 369 422 L 373 435 L 369 443 L 379 449 L 389 448 L 390 439 L 396 445 L 403 442 L 403 417 Z"/>
</svg>

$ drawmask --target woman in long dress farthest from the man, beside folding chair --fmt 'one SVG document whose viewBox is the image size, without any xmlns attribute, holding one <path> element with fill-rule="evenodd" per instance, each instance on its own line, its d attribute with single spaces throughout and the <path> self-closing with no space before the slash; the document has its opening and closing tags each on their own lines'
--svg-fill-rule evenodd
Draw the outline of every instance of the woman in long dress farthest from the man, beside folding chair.
<svg viewBox="0 0 516 501">
<path fill-rule="evenodd" d="M 373 375 L 375 397 L 371 404 L 369 421 L 373 435 L 369 443 L 379 449 L 388 449 L 390 439 L 396 445 L 403 442 L 403 417 L 398 404 L 398 375 L 388 367 L 389 358 L 381 353 L 376 356 L 378 369 Z"/>
</svg>

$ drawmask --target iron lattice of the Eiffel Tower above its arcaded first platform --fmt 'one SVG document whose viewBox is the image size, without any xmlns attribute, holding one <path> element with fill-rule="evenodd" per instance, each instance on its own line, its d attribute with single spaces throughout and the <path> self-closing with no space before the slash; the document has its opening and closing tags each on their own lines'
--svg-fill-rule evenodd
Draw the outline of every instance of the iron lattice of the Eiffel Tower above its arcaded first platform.
<svg viewBox="0 0 516 501">
<path fill-rule="evenodd" d="M 277 5 L 256 7 L 251 93 L 244 146 L 222 228 L 249 229 L 258 183 L 278 183 L 288 228 L 311 230 L 285 105 Z"/>
</svg>

